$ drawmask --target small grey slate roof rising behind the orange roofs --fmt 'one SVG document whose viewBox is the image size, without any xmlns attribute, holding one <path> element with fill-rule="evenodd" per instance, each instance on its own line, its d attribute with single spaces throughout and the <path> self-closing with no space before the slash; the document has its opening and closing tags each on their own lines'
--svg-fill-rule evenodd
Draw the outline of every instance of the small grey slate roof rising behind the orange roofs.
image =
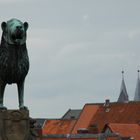
<svg viewBox="0 0 140 140">
<path fill-rule="evenodd" d="M 81 113 L 81 109 L 69 109 L 62 119 L 78 119 Z"/>
</svg>

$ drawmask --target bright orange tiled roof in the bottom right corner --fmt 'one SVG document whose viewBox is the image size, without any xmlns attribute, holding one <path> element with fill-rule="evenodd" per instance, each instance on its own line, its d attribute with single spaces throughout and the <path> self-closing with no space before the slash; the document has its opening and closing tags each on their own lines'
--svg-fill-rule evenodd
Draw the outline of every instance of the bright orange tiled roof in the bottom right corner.
<svg viewBox="0 0 140 140">
<path fill-rule="evenodd" d="M 138 124 L 110 123 L 107 126 L 112 132 L 117 132 L 122 137 L 134 137 L 135 140 L 140 140 L 140 126 Z"/>
</svg>

